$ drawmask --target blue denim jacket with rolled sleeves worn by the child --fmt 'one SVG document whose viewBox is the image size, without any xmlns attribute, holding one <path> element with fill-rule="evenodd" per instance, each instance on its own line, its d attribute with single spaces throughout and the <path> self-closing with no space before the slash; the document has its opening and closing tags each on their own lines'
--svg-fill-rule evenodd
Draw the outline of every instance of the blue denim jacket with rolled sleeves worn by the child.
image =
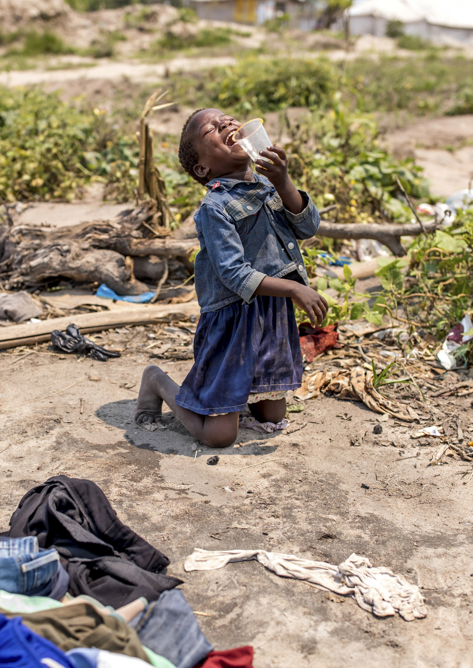
<svg viewBox="0 0 473 668">
<path fill-rule="evenodd" d="M 297 272 L 307 282 L 297 239 L 317 233 L 320 216 L 311 198 L 299 214 L 288 211 L 276 188 L 255 174 L 256 182 L 217 178 L 194 216 L 200 252 L 195 289 L 200 312 L 217 311 L 239 299 L 253 301 L 265 276 Z"/>
</svg>

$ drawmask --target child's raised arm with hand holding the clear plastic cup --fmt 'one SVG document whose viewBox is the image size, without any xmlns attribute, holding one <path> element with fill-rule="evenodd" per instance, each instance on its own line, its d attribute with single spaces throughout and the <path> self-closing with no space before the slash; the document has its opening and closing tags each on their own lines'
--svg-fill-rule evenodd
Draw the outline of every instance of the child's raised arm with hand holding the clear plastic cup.
<svg viewBox="0 0 473 668">
<path fill-rule="evenodd" d="M 257 160 L 255 162 L 256 170 L 258 174 L 266 176 L 275 186 L 285 206 L 289 224 L 291 224 L 296 238 L 307 239 L 317 234 L 320 222 L 319 212 L 307 194 L 304 198 L 291 181 L 287 171 L 287 156 L 284 150 L 280 146 L 269 146 L 267 151 L 260 151 L 260 155 L 269 158 L 273 164 L 266 162 L 266 160 Z"/>
</svg>

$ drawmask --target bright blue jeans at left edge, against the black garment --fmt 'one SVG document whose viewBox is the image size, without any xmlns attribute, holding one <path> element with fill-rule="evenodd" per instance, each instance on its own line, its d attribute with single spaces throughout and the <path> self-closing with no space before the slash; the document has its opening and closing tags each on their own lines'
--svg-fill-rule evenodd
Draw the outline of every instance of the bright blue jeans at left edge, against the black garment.
<svg viewBox="0 0 473 668">
<path fill-rule="evenodd" d="M 3 591 L 48 596 L 60 565 L 54 548 L 39 552 L 36 536 L 0 538 L 0 589 Z"/>
</svg>

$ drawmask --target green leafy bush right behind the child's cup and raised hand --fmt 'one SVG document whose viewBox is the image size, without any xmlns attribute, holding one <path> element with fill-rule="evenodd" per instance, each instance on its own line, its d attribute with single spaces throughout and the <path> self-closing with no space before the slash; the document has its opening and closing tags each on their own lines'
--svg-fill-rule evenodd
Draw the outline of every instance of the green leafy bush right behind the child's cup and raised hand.
<svg viewBox="0 0 473 668">
<path fill-rule="evenodd" d="M 396 174 L 412 196 L 428 194 L 414 161 L 393 160 L 377 145 L 374 120 L 351 114 L 341 104 L 313 112 L 295 128 L 285 149 L 298 187 L 309 192 L 318 208 L 335 202 L 339 222 L 410 220 L 410 210 L 398 199 Z"/>
</svg>

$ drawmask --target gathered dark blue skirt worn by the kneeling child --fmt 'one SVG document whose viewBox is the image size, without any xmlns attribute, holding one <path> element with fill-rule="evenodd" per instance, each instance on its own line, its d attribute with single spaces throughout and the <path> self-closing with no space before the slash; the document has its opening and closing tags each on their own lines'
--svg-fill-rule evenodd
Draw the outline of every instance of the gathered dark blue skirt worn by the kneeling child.
<svg viewBox="0 0 473 668">
<path fill-rule="evenodd" d="M 202 313 L 194 365 L 176 403 L 200 415 L 241 411 L 250 393 L 297 389 L 302 353 L 293 303 L 285 297 L 243 300 Z"/>
</svg>

